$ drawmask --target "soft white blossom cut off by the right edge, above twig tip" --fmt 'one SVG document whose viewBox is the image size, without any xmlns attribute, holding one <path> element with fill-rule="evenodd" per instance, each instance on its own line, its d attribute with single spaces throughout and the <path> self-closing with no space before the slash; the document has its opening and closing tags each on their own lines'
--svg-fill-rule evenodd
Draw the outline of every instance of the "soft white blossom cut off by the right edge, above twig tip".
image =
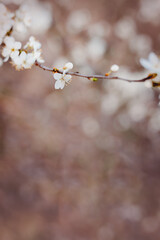
<svg viewBox="0 0 160 240">
<path fill-rule="evenodd" d="M 141 58 L 140 63 L 149 71 L 160 74 L 160 59 L 154 52 L 149 54 L 148 59 Z"/>
</svg>

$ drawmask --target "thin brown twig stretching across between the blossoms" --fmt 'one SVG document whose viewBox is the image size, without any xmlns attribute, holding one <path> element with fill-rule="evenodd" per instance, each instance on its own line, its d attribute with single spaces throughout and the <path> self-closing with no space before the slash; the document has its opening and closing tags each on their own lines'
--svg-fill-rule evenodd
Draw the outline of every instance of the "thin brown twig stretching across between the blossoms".
<svg viewBox="0 0 160 240">
<path fill-rule="evenodd" d="M 49 72 L 58 72 L 63 74 L 63 72 L 59 71 L 58 69 L 54 69 L 54 68 L 49 68 L 46 66 L 43 66 L 42 64 L 40 64 L 39 62 L 35 62 L 35 65 L 38 66 L 39 68 L 45 70 L 45 71 L 49 71 Z M 142 79 L 126 79 L 126 78 L 121 78 L 118 76 L 106 76 L 106 75 L 85 75 L 85 74 L 81 74 L 78 72 L 67 72 L 66 74 L 72 75 L 72 76 L 76 76 L 76 77 L 82 77 L 82 78 L 87 78 L 88 80 L 92 80 L 92 79 L 107 79 L 107 80 L 122 80 L 125 82 L 145 82 L 147 80 L 153 79 L 157 76 L 156 73 L 151 73 L 149 74 L 147 77 L 142 78 Z"/>
</svg>

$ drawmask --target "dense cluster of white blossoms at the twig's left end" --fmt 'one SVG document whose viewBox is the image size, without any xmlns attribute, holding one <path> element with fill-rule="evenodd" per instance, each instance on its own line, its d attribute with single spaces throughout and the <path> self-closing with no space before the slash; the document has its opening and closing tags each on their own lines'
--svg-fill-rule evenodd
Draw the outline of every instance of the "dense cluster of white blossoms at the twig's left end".
<svg viewBox="0 0 160 240">
<path fill-rule="evenodd" d="M 11 59 L 11 63 L 17 70 L 29 69 L 38 61 L 44 62 L 41 57 L 41 43 L 34 37 L 22 47 L 20 41 L 11 36 L 13 30 L 26 31 L 31 24 L 31 17 L 26 5 L 21 5 L 18 10 L 11 13 L 4 4 L 0 4 L 0 44 L 2 44 L 1 65 Z"/>
</svg>

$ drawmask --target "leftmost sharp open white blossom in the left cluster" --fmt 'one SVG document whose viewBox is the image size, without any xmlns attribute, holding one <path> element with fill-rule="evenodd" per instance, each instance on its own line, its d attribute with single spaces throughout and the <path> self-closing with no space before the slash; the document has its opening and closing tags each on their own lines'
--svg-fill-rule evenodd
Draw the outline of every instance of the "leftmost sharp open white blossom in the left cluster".
<svg viewBox="0 0 160 240">
<path fill-rule="evenodd" d="M 5 37 L 4 39 L 5 47 L 2 50 L 2 56 L 5 57 L 4 62 L 8 61 L 9 57 L 12 59 L 19 55 L 19 49 L 21 49 L 22 44 L 16 42 L 13 37 Z"/>
</svg>

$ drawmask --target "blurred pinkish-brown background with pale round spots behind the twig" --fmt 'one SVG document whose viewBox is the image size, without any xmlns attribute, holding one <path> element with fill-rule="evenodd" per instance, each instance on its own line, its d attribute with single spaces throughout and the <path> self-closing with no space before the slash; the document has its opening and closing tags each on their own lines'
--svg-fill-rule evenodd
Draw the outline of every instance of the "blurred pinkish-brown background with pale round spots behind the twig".
<svg viewBox="0 0 160 240">
<path fill-rule="evenodd" d="M 1 1 L 28 4 L 22 38 L 45 65 L 147 76 L 160 53 L 160 0 Z M 153 240 L 160 236 L 159 92 L 144 83 L 74 77 L 54 89 L 36 66 L 0 68 L 0 239 Z"/>
</svg>

